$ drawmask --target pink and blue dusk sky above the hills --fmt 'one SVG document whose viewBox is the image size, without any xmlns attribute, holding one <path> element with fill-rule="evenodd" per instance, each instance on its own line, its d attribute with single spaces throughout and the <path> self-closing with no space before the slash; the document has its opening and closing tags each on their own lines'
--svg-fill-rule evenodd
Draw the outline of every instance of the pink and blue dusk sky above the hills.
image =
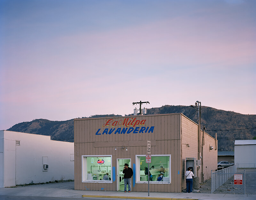
<svg viewBox="0 0 256 200">
<path fill-rule="evenodd" d="M 256 114 L 255 1 L 1 1 L 0 130 L 132 102 Z"/>
</svg>

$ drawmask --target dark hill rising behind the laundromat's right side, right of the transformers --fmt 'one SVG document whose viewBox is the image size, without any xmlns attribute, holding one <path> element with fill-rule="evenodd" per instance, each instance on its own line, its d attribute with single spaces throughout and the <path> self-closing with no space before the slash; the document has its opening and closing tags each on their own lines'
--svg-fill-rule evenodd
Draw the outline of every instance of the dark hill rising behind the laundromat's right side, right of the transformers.
<svg viewBox="0 0 256 200">
<path fill-rule="evenodd" d="M 164 114 L 181 112 L 198 123 L 198 111 L 191 106 L 165 105 L 147 110 L 147 114 Z M 244 115 L 233 111 L 201 107 L 201 129 L 215 138 L 217 133 L 218 150 L 234 150 L 235 140 L 252 140 L 256 136 L 256 115 Z"/>
</svg>

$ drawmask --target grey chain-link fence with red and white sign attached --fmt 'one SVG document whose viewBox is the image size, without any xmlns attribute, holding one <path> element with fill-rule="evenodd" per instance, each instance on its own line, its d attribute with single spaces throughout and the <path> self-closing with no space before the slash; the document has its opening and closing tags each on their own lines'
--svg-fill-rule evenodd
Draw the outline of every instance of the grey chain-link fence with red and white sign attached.
<svg viewBox="0 0 256 200">
<path fill-rule="evenodd" d="M 245 194 L 244 173 L 236 172 L 236 165 L 212 172 L 212 194 Z"/>
</svg>

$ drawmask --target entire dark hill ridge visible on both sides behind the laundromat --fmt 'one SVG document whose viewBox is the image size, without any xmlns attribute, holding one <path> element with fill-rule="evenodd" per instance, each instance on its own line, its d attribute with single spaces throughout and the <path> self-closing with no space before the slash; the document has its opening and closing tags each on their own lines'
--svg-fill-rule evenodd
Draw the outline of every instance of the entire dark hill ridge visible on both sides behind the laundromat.
<svg viewBox="0 0 256 200">
<path fill-rule="evenodd" d="M 147 109 L 147 114 L 183 113 L 189 119 L 198 122 L 198 111 L 191 106 L 165 105 L 160 108 Z M 91 117 L 113 117 L 111 115 L 93 115 Z M 121 116 L 121 115 L 116 115 Z M 91 118 L 90 117 L 90 118 Z M 218 110 L 212 107 L 201 107 L 201 129 L 215 137 L 217 133 L 218 150 L 234 150 L 234 141 L 256 137 L 256 115 L 244 115 L 232 111 Z M 52 140 L 74 142 L 74 121 L 50 121 L 35 119 L 22 122 L 8 129 L 24 133 L 50 135 Z"/>
</svg>

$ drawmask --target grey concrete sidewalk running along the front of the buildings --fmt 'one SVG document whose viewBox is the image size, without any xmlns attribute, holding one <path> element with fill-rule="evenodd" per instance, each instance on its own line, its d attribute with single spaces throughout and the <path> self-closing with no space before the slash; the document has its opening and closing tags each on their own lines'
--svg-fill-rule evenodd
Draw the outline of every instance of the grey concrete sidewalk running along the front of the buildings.
<svg viewBox="0 0 256 200">
<path fill-rule="evenodd" d="M 65 189 L 64 189 L 65 188 Z M 74 182 L 51 183 L 43 185 L 18 186 L 15 188 L 0 188 L 1 195 L 7 196 L 42 196 L 42 197 L 69 197 L 69 198 L 116 198 L 116 199 L 226 199 L 226 200 L 254 200 L 256 195 L 230 195 L 205 193 L 165 193 L 165 192 L 120 192 L 120 191 L 91 191 L 74 190 Z M 84 198 L 85 199 L 85 198 Z"/>
</svg>

